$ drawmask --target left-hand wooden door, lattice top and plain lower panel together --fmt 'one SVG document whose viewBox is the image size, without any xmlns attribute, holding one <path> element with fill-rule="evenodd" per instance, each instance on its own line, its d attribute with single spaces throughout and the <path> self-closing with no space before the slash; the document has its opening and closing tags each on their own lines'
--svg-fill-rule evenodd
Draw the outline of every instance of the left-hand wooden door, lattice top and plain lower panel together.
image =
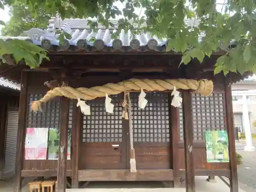
<svg viewBox="0 0 256 192">
<path fill-rule="evenodd" d="M 88 101 L 91 115 L 83 116 L 79 155 L 81 169 L 125 168 L 126 148 L 120 95 L 111 98 L 115 105 L 113 114 L 105 112 L 104 98 Z"/>
</svg>

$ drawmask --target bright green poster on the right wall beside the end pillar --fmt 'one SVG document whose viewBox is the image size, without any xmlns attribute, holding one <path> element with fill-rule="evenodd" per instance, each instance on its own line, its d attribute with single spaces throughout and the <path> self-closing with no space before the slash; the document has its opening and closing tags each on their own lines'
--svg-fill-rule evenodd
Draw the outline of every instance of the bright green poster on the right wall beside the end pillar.
<svg viewBox="0 0 256 192">
<path fill-rule="evenodd" d="M 226 131 L 206 131 L 205 141 L 208 163 L 229 162 Z"/>
</svg>

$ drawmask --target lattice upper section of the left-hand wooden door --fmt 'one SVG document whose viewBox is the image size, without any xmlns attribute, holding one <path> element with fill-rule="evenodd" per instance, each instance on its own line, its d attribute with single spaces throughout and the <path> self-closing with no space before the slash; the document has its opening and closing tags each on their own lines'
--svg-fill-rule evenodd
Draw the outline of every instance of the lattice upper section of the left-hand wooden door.
<svg viewBox="0 0 256 192">
<path fill-rule="evenodd" d="M 122 141 L 122 103 L 120 95 L 111 96 L 115 105 L 114 113 L 106 113 L 105 100 L 88 101 L 91 115 L 83 116 L 82 142 L 121 142 Z"/>
</svg>

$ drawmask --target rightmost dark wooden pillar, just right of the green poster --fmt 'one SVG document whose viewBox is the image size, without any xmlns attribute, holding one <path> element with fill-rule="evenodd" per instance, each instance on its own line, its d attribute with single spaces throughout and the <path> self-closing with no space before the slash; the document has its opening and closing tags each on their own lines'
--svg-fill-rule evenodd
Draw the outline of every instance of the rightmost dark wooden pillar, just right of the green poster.
<svg viewBox="0 0 256 192">
<path fill-rule="evenodd" d="M 232 93 L 229 78 L 225 78 L 226 127 L 228 134 L 228 151 L 230 166 L 230 191 L 238 192 L 238 172 L 236 163 L 236 144 L 234 142 L 234 123 Z"/>
</svg>

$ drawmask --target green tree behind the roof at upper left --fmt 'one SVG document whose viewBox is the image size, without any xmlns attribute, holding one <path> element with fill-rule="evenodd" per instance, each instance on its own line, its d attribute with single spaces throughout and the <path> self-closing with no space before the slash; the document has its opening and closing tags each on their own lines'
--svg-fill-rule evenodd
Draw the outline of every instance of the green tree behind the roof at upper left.
<svg viewBox="0 0 256 192">
<path fill-rule="evenodd" d="M 41 9 L 38 15 L 32 16 L 26 4 L 17 1 L 10 9 L 11 18 L 2 29 L 2 35 L 22 36 L 24 31 L 31 28 L 46 29 L 52 14 Z"/>
</svg>

